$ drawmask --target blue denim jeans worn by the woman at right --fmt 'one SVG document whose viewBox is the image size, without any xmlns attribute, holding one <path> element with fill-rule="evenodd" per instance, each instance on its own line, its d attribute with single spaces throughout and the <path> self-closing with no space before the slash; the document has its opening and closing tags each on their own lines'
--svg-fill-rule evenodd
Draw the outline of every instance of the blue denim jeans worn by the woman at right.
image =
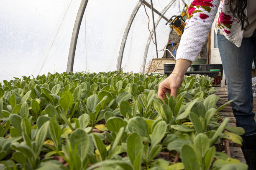
<svg viewBox="0 0 256 170">
<path fill-rule="evenodd" d="M 238 127 L 245 130 L 244 135 L 256 133 L 253 95 L 251 87 L 251 66 L 256 63 L 256 30 L 249 38 L 243 38 L 240 47 L 227 40 L 219 31 L 218 47 L 223 64 L 230 103 Z"/>
</svg>

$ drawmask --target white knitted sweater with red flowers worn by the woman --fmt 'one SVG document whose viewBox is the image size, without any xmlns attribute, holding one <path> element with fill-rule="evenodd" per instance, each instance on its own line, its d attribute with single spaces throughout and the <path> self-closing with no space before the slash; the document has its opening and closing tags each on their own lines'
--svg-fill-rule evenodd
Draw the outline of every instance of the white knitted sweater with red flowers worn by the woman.
<svg viewBox="0 0 256 170">
<path fill-rule="evenodd" d="M 217 11 L 220 32 L 237 47 L 241 46 L 243 30 L 241 31 L 241 24 L 230 12 L 229 2 L 230 0 L 194 0 L 191 3 L 177 50 L 177 60 L 195 60 L 207 39 Z"/>
</svg>

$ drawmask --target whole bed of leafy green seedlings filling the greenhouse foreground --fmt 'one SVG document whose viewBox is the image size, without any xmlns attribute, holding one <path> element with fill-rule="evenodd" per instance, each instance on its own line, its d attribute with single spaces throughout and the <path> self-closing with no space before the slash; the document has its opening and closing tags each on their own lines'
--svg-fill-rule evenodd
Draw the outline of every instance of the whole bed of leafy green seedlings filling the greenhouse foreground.
<svg viewBox="0 0 256 170">
<path fill-rule="evenodd" d="M 218 123 L 229 102 L 216 106 L 212 79 L 184 77 L 177 98 L 166 94 L 162 101 L 164 78 L 64 72 L 0 83 L 0 169 L 187 169 L 206 154 L 207 163 L 228 161 L 214 145 L 226 138 L 239 144 L 242 131 L 229 129 L 228 119 Z M 59 155 L 66 163 L 54 160 Z M 225 166 L 217 163 L 212 167 Z"/>
</svg>

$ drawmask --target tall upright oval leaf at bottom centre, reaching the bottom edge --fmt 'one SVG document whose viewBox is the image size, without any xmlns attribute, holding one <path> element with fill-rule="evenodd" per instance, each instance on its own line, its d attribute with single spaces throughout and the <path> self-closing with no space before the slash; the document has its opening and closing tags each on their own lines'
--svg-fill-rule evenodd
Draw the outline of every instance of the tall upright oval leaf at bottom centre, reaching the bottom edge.
<svg viewBox="0 0 256 170">
<path fill-rule="evenodd" d="M 127 139 L 127 154 L 135 170 L 141 169 L 143 143 L 138 133 L 132 133 Z"/>
</svg>

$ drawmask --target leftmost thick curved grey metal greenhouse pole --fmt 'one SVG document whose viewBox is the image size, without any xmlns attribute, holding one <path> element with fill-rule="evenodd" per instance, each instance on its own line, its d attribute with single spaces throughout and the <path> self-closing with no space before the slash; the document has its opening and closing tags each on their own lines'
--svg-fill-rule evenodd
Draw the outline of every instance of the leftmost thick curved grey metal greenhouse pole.
<svg viewBox="0 0 256 170">
<path fill-rule="evenodd" d="M 73 29 L 73 33 L 72 33 L 70 48 L 69 48 L 69 59 L 68 59 L 68 64 L 67 64 L 67 72 L 73 71 L 74 56 L 75 56 L 76 47 L 77 47 L 77 38 L 78 38 L 80 26 L 82 23 L 82 19 L 84 16 L 84 11 L 85 11 L 87 3 L 88 3 L 88 0 L 82 0 L 79 10 L 78 10 L 78 13 L 77 13 L 77 18 L 76 18 L 76 21 L 74 24 L 74 29 Z"/>
</svg>

